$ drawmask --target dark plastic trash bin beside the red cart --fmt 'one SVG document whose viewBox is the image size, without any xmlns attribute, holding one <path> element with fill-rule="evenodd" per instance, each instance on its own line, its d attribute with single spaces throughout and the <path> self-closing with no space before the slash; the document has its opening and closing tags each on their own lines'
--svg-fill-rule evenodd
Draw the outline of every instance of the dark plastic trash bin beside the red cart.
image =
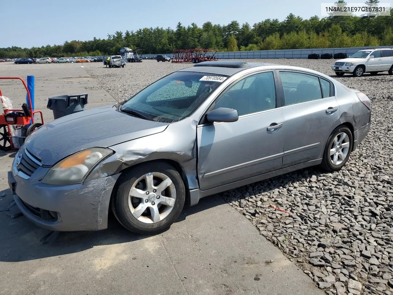
<svg viewBox="0 0 393 295">
<path fill-rule="evenodd" d="M 48 109 L 55 119 L 84 110 L 87 105 L 87 93 L 76 95 L 59 95 L 48 98 Z"/>
</svg>

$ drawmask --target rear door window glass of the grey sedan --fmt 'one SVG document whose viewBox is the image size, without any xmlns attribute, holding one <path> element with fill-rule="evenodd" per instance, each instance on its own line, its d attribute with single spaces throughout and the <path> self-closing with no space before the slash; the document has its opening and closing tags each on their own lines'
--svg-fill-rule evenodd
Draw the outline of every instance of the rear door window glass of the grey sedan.
<svg viewBox="0 0 393 295">
<path fill-rule="evenodd" d="M 284 87 L 285 105 L 322 98 L 318 77 L 296 72 L 280 72 L 280 76 Z"/>
</svg>

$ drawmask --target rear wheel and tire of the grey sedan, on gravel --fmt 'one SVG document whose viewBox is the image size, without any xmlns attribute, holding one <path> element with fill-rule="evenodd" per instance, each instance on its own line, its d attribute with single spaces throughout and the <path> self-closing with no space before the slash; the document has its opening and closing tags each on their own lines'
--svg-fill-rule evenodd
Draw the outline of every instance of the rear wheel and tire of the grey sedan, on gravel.
<svg viewBox="0 0 393 295">
<path fill-rule="evenodd" d="M 327 140 L 321 166 L 334 172 L 340 170 L 351 155 L 353 138 L 351 130 L 346 126 L 338 126 Z"/>
</svg>

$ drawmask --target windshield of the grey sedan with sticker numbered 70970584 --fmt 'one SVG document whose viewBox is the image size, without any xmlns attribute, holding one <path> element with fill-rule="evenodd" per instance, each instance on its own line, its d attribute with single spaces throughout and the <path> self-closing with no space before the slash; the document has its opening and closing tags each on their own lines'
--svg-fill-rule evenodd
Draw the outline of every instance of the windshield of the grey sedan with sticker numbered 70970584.
<svg viewBox="0 0 393 295">
<path fill-rule="evenodd" d="M 193 112 L 226 77 L 174 72 L 149 85 L 121 106 L 156 122 L 177 122 Z"/>
</svg>

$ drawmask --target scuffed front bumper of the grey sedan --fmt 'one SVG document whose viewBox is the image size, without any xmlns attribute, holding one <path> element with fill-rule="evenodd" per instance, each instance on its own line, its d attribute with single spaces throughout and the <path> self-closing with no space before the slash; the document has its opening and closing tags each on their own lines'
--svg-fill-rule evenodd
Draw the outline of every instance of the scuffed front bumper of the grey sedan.
<svg viewBox="0 0 393 295">
<path fill-rule="evenodd" d="M 20 211 L 39 227 L 55 231 L 101 230 L 108 226 L 110 196 L 119 175 L 54 186 L 35 181 L 36 177 L 22 179 L 8 172 L 8 184 Z"/>
</svg>

